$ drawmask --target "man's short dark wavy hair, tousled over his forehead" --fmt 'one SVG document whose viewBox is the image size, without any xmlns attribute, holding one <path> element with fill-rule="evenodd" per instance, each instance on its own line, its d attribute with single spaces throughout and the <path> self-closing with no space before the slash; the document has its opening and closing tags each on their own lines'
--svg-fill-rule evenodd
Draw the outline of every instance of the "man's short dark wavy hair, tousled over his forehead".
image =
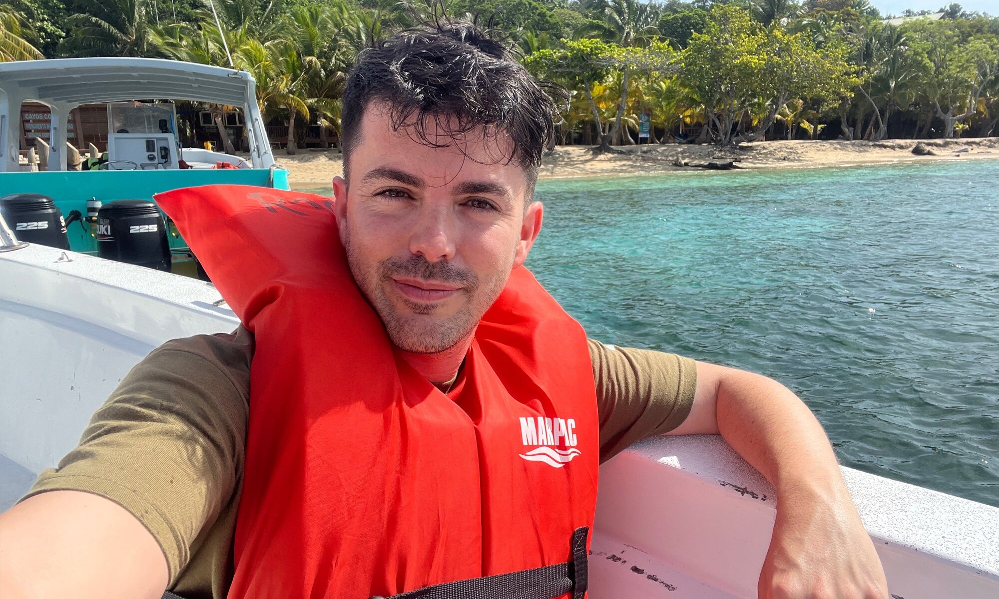
<svg viewBox="0 0 999 599">
<path fill-rule="evenodd" d="M 506 135 L 509 156 L 527 178 L 528 198 L 541 153 L 564 100 L 558 86 L 534 79 L 502 37 L 474 23 L 449 21 L 403 31 L 363 50 L 348 75 L 341 112 L 344 174 L 373 101 L 387 104 L 395 130 L 408 128 L 431 147 L 440 136 Z M 428 135 L 430 133 L 430 135 Z"/>
</svg>

